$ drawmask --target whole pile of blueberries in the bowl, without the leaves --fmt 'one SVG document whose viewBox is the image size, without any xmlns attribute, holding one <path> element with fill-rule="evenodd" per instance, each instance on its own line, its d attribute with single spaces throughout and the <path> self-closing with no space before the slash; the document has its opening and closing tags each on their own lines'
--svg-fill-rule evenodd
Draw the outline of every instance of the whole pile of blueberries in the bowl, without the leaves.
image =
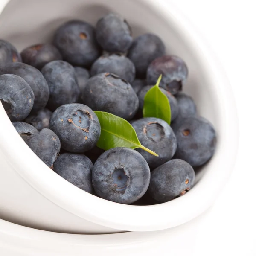
<svg viewBox="0 0 256 256">
<path fill-rule="evenodd" d="M 161 74 L 171 126 L 142 113 L 145 94 Z M 17 132 L 58 175 L 122 204 L 159 204 L 184 195 L 195 182 L 193 168 L 214 154 L 212 124 L 181 92 L 187 76 L 185 62 L 166 55 L 157 35 L 133 39 L 127 21 L 114 13 L 96 28 L 70 20 L 55 31 L 52 44 L 21 53 L 0 40 L 0 100 Z M 128 120 L 140 143 L 159 157 L 142 149 L 98 148 L 101 126 L 93 111 Z"/>
</svg>

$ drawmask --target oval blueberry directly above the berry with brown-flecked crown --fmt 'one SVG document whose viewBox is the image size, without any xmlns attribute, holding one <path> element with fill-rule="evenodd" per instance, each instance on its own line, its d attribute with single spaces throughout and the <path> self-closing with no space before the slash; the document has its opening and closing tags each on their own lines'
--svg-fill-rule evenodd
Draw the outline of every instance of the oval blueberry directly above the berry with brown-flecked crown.
<svg viewBox="0 0 256 256">
<path fill-rule="evenodd" d="M 66 61 L 52 61 L 41 70 L 48 82 L 50 97 L 47 108 L 55 111 L 64 104 L 76 103 L 80 89 L 75 69 Z"/>
</svg>

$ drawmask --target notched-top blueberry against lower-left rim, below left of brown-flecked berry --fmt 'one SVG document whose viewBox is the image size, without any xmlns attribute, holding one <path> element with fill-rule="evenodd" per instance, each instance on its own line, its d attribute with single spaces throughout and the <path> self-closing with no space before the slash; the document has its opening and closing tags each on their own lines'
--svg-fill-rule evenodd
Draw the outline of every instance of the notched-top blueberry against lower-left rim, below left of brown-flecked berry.
<svg viewBox="0 0 256 256">
<path fill-rule="evenodd" d="M 61 149 L 61 142 L 52 130 L 44 128 L 38 134 L 24 140 L 47 166 L 52 167 Z"/>
</svg>

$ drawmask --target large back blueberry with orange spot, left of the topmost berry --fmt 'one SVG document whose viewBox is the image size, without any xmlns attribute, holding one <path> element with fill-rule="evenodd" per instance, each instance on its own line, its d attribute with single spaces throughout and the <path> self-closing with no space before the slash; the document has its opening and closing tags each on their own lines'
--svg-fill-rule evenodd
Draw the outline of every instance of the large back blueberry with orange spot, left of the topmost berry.
<svg viewBox="0 0 256 256">
<path fill-rule="evenodd" d="M 95 29 L 82 20 L 70 20 L 55 32 L 53 44 L 64 61 L 73 66 L 90 67 L 102 50 L 96 41 Z"/>
</svg>

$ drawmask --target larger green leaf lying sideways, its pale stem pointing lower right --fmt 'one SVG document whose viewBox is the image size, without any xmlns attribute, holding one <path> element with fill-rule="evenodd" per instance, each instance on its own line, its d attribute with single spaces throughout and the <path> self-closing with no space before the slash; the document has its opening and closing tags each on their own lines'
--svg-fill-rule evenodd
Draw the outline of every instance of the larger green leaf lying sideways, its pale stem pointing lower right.
<svg viewBox="0 0 256 256">
<path fill-rule="evenodd" d="M 129 122 L 111 113 L 94 111 L 99 118 L 101 134 L 97 147 L 104 150 L 116 147 L 142 148 L 150 154 L 158 157 L 158 154 L 143 147 L 137 137 L 136 131 Z"/>
</svg>

